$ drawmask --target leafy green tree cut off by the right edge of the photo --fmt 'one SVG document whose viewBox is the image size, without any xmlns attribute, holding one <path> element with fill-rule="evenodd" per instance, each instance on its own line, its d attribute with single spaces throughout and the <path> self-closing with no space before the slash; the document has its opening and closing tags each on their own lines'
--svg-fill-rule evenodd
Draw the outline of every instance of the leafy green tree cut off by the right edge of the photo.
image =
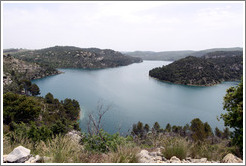
<svg viewBox="0 0 246 166">
<path fill-rule="evenodd" d="M 233 128 L 232 143 L 243 151 L 243 78 L 237 87 L 230 87 L 224 97 L 225 114 L 221 114 L 225 126 Z"/>
</svg>

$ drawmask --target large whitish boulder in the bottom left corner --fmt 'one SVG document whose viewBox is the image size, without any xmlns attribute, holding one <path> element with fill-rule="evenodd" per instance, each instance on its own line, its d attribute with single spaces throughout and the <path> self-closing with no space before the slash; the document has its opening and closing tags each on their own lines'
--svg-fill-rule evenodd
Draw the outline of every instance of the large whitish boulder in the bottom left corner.
<svg viewBox="0 0 246 166">
<path fill-rule="evenodd" d="M 16 147 L 11 153 L 6 157 L 6 161 L 10 163 L 23 163 L 30 157 L 30 149 L 23 146 Z"/>
</svg>

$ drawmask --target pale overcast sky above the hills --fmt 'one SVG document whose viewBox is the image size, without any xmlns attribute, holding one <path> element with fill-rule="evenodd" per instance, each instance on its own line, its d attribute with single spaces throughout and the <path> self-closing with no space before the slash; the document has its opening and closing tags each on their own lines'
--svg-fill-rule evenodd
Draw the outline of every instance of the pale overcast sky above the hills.
<svg viewBox="0 0 246 166">
<path fill-rule="evenodd" d="M 4 3 L 3 48 L 117 51 L 243 47 L 244 3 Z"/>
</svg>

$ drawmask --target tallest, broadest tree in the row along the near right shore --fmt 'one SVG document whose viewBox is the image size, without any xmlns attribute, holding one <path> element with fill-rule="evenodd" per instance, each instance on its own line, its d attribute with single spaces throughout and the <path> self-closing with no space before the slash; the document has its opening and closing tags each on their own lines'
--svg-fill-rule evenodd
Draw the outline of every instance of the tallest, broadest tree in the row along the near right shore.
<svg viewBox="0 0 246 166">
<path fill-rule="evenodd" d="M 190 126 L 192 133 L 192 138 L 195 141 L 203 141 L 206 137 L 203 122 L 199 118 L 195 118 L 191 121 Z"/>
</svg>

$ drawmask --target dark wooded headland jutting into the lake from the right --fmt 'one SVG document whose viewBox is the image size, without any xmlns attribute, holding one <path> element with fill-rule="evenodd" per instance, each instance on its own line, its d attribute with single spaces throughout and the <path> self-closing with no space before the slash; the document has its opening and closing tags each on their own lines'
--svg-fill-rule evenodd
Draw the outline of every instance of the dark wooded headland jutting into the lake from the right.
<svg viewBox="0 0 246 166">
<path fill-rule="evenodd" d="M 176 84 L 211 86 L 222 81 L 240 80 L 243 52 L 216 51 L 202 57 L 188 56 L 149 71 L 151 77 Z"/>
</svg>

